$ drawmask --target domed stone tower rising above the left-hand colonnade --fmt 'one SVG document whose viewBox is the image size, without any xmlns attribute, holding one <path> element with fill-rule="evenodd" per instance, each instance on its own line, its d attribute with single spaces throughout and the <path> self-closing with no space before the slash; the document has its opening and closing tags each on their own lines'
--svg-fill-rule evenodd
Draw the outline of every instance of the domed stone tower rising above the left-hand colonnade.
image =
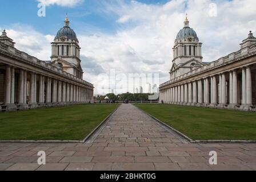
<svg viewBox="0 0 256 182">
<path fill-rule="evenodd" d="M 69 26 L 69 19 L 65 18 L 64 26 L 57 32 L 51 43 L 51 65 L 63 71 L 82 78 L 83 70 L 80 60 L 80 47 L 77 35 Z"/>
</svg>

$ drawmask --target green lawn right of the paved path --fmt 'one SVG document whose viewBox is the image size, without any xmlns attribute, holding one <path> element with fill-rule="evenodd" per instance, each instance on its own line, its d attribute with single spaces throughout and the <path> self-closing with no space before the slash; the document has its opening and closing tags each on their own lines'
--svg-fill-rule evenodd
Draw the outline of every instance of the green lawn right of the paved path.
<svg viewBox="0 0 256 182">
<path fill-rule="evenodd" d="M 256 140 L 256 113 L 165 104 L 135 104 L 191 139 Z"/>
</svg>

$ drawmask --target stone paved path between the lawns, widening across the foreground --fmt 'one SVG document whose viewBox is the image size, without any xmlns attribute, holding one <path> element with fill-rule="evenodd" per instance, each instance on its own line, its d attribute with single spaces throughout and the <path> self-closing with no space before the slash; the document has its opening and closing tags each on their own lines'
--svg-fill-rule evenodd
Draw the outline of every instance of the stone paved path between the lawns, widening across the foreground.
<svg viewBox="0 0 256 182">
<path fill-rule="evenodd" d="M 209 164 L 210 151 L 218 165 Z M 256 144 L 183 143 L 123 104 L 92 143 L 0 143 L 0 170 L 256 170 Z"/>
</svg>

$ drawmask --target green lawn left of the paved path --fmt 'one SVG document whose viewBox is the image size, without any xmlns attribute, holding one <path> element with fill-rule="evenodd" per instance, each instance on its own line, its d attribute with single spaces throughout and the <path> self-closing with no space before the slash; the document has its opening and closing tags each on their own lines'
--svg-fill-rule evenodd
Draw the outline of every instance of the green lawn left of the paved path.
<svg viewBox="0 0 256 182">
<path fill-rule="evenodd" d="M 0 113 L 0 140 L 82 140 L 118 104 L 86 104 Z"/>
</svg>

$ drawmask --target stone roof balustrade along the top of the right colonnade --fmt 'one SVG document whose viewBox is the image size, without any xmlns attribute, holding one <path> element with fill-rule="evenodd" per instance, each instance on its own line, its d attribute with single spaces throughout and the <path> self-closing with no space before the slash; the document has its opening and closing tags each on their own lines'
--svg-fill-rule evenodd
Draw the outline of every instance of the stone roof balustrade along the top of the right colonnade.
<svg viewBox="0 0 256 182">
<path fill-rule="evenodd" d="M 176 78 L 173 78 L 172 80 L 166 81 L 163 84 L 160 84 L 159 86 L 162 87 L 162 86 L 170 84 L 171 82 L 178 81 L 180 79 L 193 76 L 193 75 L 195 75 L 197 73 L 200 73 L 200 72 L 203 72 L 203 71 L 207 71 L 209 69 L 213 69 L 213 68 L 219 67 L 221 65 L 226 64 L 227 61 L 235 61 L 235 59 L 237 59 L 237 58 L 239 58 L 241 56 L 248 55 L 249 53 L 253 53 L 253 52 L 256 52 L 256 44 L 253 44 L 253 45 L 251 45 L 249 47 L 242 48 L 242 49 L 240 49 L 237 52 L 230 53 L 227 56 L 221 57 L 218 60 L 212 61 L 211 63 L 206 64 L 206 65 L 203 65 L 203 67 L 194 69 L 193 71 L 191 71 L 189 73 L 185 73 L 184 75 L 181 75 L 181 76 L 178 76 Z"/>
</svg>

